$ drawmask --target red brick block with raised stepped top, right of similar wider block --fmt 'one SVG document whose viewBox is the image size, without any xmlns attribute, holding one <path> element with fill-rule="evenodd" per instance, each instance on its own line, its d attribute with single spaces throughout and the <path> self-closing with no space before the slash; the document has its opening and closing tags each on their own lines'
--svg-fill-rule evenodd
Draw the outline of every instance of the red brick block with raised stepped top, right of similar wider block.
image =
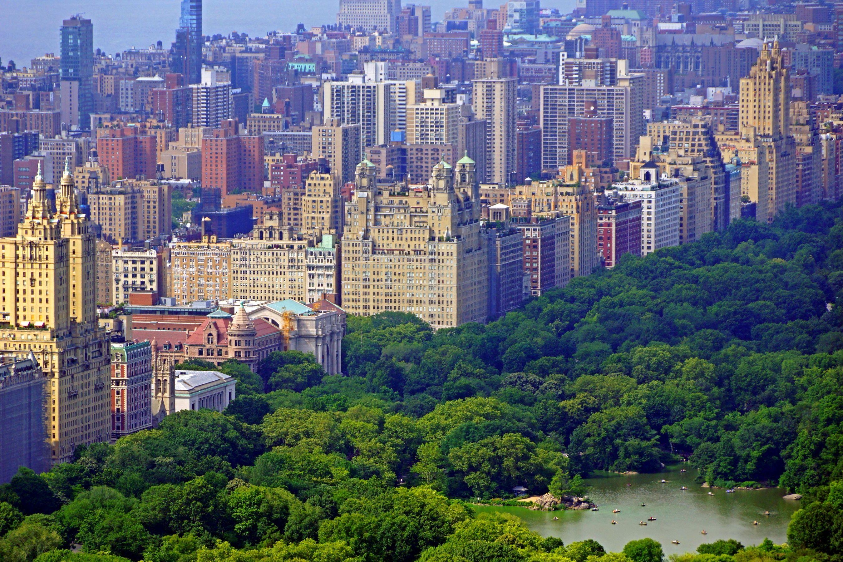
<svg viewBox="0 0 843 562">
<path fill-rule="evenodd" d="M 237 133 L 238 122 L 223 120 L 212 136 L 202 138 L 202 187 L 217 187 L 223 195 L 234 190 L 260 193 L 264 178 L 261 136 Z"/>
</svg>

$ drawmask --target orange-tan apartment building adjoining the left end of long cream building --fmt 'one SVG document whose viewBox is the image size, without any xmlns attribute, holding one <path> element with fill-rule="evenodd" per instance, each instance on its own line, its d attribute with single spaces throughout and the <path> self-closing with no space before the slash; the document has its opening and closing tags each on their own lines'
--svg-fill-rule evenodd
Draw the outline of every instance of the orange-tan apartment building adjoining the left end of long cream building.
<svg viewBox="0 0 843 562">
<path fill-rule="evenodd" d="M 221 301 L 231 297 L 231 241 L 203 235 L 201 242 L 169 246 L 169 297 L 176 304 Z"/>
</svg>

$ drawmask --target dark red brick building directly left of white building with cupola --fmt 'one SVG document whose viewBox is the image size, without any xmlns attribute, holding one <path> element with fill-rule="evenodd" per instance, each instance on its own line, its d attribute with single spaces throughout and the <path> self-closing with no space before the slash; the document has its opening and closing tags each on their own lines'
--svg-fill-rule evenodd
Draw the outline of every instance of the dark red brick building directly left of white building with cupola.
<svg viewBox="0 0 843 562">
<path fill-rule="evenodd" d="M 641 255 L 641 201 L 598 195 L 597 249 L 605 267 L 623 254 Z"/>
</svg>

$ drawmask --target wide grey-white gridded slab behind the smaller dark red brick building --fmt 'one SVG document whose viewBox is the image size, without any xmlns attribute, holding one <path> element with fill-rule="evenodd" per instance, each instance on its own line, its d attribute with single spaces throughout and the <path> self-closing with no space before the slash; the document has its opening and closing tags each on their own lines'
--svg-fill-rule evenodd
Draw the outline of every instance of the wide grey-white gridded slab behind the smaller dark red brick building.
<svg viewBox="0 0 843 562">
<path fill-rule="evenodd" d="M 636 142 L 645 131 L 643 75 L 619 73 L 613 86 L 541 87 L 542 168 L 570 163 L 569 118 L 584 115 L 587 103 L 596 104 L 597 117 L 612 120 L 615 160 L 635 156 Z"/>
</svg>

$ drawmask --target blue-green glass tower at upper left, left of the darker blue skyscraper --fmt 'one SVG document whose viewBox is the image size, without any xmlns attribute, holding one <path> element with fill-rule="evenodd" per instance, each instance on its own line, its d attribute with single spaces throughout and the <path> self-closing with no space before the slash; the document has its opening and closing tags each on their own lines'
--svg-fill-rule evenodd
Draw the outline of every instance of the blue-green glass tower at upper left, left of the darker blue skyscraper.
<svg viewBox="0 0 843 562">
<path fill-rule="evenodd" d="M 62 120 L 69 126 L 88 129 L 94 110 L 94 26 L 79 15 L 62 21 Z"/>
</svg>

